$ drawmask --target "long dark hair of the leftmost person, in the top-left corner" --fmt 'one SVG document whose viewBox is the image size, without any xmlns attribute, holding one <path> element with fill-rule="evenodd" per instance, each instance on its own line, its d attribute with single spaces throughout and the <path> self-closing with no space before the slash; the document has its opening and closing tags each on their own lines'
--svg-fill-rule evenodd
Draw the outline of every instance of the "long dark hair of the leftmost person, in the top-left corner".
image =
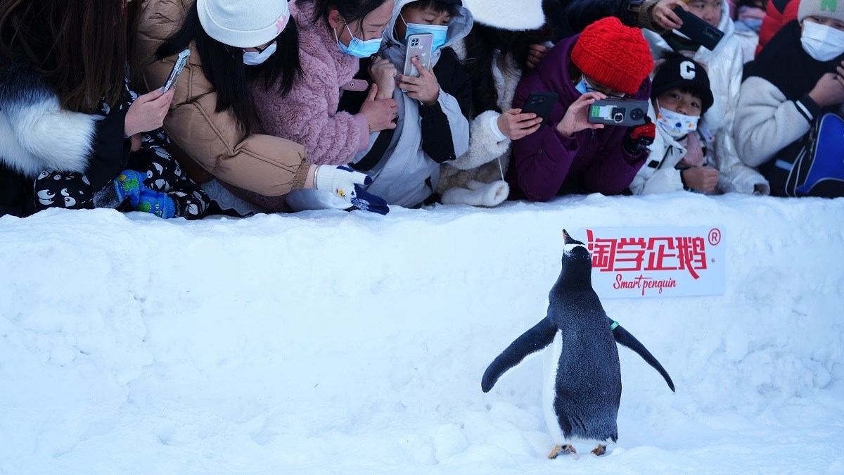
<svg viewBox="0 0 844 475">
<path fill-rule="evenodd" d="M 140 14 L 125 0 L 0 0 L 0 57 L 28 64 L 62 108 L 99 113 L 121 100 L 127 65 L 139 70 Z"/>
</svg>

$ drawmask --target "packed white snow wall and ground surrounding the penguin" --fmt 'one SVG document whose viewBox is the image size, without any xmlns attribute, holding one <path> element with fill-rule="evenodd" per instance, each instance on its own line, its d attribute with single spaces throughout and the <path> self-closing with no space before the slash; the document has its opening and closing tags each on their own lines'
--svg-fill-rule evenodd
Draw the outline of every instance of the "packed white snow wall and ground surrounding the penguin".
<svg viewBox="0 0 844 475">
<path fill-rule="evenodd" d="M 3 217 L 0 472 L 841 473 L 842 218 L 693 194 Z M 603 302 L 677 392 L 619 350 L 619 443 L 547 460 L 541 358 L 479 381 L 544 316 L 560 229 L 715 225 L 724 295 Z"/>
</svg>

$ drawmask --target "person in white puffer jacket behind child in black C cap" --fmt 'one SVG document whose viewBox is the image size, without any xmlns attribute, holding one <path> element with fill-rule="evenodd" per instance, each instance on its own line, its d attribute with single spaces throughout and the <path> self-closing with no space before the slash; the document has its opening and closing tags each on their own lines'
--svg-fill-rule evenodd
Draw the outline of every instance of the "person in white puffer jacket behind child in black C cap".
<svg viewBox="0 0 844 475">
<path fill-rule="evenodd" d="M 688 3 L 690 12 L 706 20 L 724 32 L 721 41 L 710 51 L 696 45 L 674 31 L 659 35 L 642 30 L 657 65 L 660 59 L 680 53 L 703 64 L 709 74 L 712 95 L 715 101 L 703 117 L 709 134 L 714 139 L 712 146 L 722 172 L 719 187 L 724 192 L 745 194 L 760 193 L 760 174 L 747 167 L 738 158 L 733 142 L 733 123 L 738 106 L 738 91 L 741 89 L 744 60 L 742 47 L 734 35 L 733 19 L 730 19 L 727 0 L 692 0 Z M 764 181 L 764 178 L 762 178 Z M 765 188 L 762 188 L 763 191 Z"/>
</svg>

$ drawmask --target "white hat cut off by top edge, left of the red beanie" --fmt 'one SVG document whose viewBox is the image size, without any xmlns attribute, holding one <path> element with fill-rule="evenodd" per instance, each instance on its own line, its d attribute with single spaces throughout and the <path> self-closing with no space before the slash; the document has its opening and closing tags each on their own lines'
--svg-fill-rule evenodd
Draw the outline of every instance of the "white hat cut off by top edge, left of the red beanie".
<svg viewBox="0 0 844 475">
<path fill-rule="evenodd" d="M 501 30 L 538 30 L 545 24 L 542 0 L 463 0 L 463 6 L 475 23 Z"/>
</svg>

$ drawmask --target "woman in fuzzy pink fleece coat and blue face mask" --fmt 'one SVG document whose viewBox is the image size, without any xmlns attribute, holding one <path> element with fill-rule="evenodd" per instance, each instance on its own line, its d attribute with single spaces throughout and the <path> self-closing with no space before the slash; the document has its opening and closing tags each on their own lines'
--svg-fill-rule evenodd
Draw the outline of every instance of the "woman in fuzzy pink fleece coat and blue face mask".
<svg viewBox="0 0 844 475">
<path fill-rule="evenodd" d="M 304 145 L 307 161 L 317 165 L 349 163 L 369 146 L 370 132 L 394 128 L 396 101 L 375 100 L 377 86 L 357 114 L 338 112 L 343 90 L 365 90 L 352 80 L 359 58 L 377 52 L 391 19 L 393 0 L 291 0 L 299 26 L 302 74 L 289 94 L 280 86 L 252 82 L 258 120 L 265 134 Z M 377 43 L 377 44 L 376 44 Z M 372 51 L 372 50 L 375 51 Z M 355 56 L 357 55 L 357 56 Z"/>
</svg>

